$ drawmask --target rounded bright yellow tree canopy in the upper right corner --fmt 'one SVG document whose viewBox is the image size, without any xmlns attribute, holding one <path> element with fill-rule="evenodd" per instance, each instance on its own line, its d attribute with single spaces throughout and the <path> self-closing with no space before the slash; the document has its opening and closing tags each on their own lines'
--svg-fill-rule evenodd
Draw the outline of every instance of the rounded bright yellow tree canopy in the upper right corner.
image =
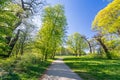
<svg viewBox="0 0 120 80">
<path fill-rule="evenodd" d="M 102 33 L 117 33 L 120 35 L 120 0 L 113 0 L 102 9 L 93 21 L 93 29 Z"/>
</svg>

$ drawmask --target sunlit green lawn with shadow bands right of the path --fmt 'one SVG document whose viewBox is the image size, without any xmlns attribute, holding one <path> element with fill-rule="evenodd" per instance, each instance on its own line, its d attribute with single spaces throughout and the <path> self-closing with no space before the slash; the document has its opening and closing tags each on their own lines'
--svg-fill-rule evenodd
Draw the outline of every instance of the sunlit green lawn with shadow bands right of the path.
<svg viewBox="0 0 120 80">
<path fill-rule="evenodd" d="M 120 80 L 120 60 L 66 57 L 65 63 L 84 80 Z"/>
</svg>

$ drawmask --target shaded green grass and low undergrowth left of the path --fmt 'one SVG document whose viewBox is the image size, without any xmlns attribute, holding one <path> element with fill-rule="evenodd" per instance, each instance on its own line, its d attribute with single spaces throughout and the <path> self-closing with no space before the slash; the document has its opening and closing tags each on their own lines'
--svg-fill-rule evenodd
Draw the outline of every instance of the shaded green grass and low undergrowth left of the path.
<svg viewBox="0 0 120 80">
<path fill-rule="evenodd" d="M 7 72 L 0 76 L 0 80 L 38 80 L 53 61 L 41 62 L 39 58 L 31 54 L 18 58 L 0 59 L 0 68 Z"/>
</svg>

